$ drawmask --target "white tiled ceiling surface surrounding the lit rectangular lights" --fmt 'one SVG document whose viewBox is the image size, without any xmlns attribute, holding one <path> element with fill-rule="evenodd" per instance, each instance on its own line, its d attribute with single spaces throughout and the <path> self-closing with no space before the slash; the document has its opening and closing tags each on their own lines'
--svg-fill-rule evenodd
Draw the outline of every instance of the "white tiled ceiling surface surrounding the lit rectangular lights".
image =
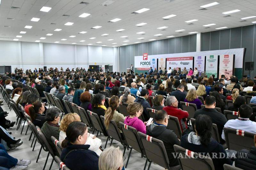
<svg viewBox="0 0 256 170">
<path fill-rule="evenodd" d="M 81 2 L 89 4 L 80 4 Z M 189 32 L 208 32 L 214 31 L 215 28 L 227 26 L 228 28 L 245 26 L 253 24 L 256 18 L 241 18 L 256 15 L 256 0 L 113 0 L 113 4 L 102 6 L 106 0 L 2 0 L 0 4 L 0 40 L 12 41 L 16 35 L 22 35 L 19 41 L 35 42 L 41 37 L 46 37 L 41 42 L 54 43 L 60 41 L 61 44 L 71 44 L 76 42 L 77 45 L 107 45 L 122 46 L 122 44 L 134 44 L 136 41 L 147 42 L 150 39 L 165 39 L 166 36 L 183 36 Z M 220 4 L 208 7 L 207 10 L 200 6 L 218 2 Z M 19 9 L 11 9 L 11 7 Z M 43 6 L 51 7 L 49 12 L 39 11 Z M 132 14 L 132 12 L 142 8 L 150 10 Z M 231 10 L 241 10 L 236 13 L 228 14 L 222 12 Z M 91 16 L 86 18 L 78 17 L 82 13 L 90 13 Z M 62 16 L 62 15 L 69 16 Z M 164 16 L 175 14 L 177 16 L 164 20 Z M 40 18 L 38 22 L 30 21 L 31 18 Z M 13 18 L 13 19 L 7 19 Z M 122 20 L 110 23 L 108 21 L 121 18 Z M 198 19 L 188 25 L 185 21 Z M 72 26 L 65 26 L 67 22 L 73 22 Z M 136 24 L 147 23 L 138 27 Z M 54 23 L 54 24 L 51 24 Z M 216 25 L 205 28 L 203 25 L 214 23 Z M 10 27 L 6 27 L 10 26 Z M 25 26 L 33 26 L 31 29 Z M 93 26 L 102 26 L 99 29 L 91 29 Z M 158 27 L 168 26 L 164 31 Z M 61 31 L 53 31 L 56 28 Z M 116 32 L 118 29 L 125 29 L 122 32 Z M 175 30 L 185 29 L 182 33 Z M 20 31 L 26 31 L 20 34 Z M 80 34 L 79 32 L 87 33 Z M 137 32 L 145 32 L 145 35 Z M 52 36 L 46 36 L 52 33 Z M 101 34 L 108 33 L 108 36 Z M 163 34 L 160 37 L 155 34 Z M 69 36 L 76 35 L 75 38 Z M 120 38 L 120 36 L 128 36 Z M 95 39 L 89 39 L 96 37 Z M 138 40 L 137 38 L 144 39 Z M 61 41 L 61 39 L 67 39 Z M 114 39 L 107 41 L 108 39 Z M 85 40 L 84 42 L 79 42 Z M 128 42 L 123 42 L 129 40 Z M 102 43 L 97 44 L 96 42 Z M 117 44 L 112 44 L 117 43 Z"/>
</svg>

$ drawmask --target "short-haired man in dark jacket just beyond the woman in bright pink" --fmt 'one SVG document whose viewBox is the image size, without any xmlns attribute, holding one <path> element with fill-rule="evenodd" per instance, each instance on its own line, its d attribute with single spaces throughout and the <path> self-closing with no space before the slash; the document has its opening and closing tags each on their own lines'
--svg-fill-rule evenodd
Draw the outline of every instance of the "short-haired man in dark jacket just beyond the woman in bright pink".
<svg viewBox="0 0 256 170">
<path fill-rule="evenodd" d="M 134 102 L 140 103 L 143 106 L 143 117 L 144 121 L 148 121 L 150 118 L 149 113 L 147 111 L 147 108 L 150 108 L 150 104 L 148 103 L 148 90 L 147 89 L 142 89 L 140 92 L 140 97 L 138 97 Z"/>
</svg>

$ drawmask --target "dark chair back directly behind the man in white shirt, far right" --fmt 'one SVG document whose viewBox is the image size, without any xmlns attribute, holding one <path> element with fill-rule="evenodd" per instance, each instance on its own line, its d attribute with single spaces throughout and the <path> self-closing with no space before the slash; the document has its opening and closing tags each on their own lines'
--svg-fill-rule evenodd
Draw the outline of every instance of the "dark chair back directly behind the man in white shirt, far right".
<svg viewBox="0 0 256 170">
<path fill-rule="evenodd" d="M 250 150 L 251 146 L 254 146 L 254 133 L 225 127 L 223 130 L 228 149 L 235 151 Z"/>
</svg>

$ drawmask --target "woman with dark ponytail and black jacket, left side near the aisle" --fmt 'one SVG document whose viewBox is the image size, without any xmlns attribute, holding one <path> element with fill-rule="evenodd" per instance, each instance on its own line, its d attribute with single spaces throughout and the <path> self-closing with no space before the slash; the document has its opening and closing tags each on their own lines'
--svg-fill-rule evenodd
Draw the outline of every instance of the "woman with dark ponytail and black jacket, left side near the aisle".
<svg viewBox="0 0 256 170">
<path fill-rule="evenodd" d="M 31 122 L 41 128 L 46 122 L 44 113 L 44 105 L 41 101 L 35 101 L 31 107 L 28 108 Z"/>
</svg>

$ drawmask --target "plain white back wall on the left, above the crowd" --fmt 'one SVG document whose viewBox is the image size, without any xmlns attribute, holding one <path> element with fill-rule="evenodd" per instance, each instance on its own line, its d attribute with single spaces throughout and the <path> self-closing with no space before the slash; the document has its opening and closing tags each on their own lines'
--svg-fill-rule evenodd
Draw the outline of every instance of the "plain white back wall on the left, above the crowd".
<svg viewBox="0 0 256 170">
<path fill-rule="evenodd" d="M 118 48 L 102 46 L 82 46 L 55 43 L 20 41 L 0 41 L 0 65 L 34 70 L 36 67 L 83 67 L 89 65 L 113 65 L 118 71 Z"/>
</svg>

